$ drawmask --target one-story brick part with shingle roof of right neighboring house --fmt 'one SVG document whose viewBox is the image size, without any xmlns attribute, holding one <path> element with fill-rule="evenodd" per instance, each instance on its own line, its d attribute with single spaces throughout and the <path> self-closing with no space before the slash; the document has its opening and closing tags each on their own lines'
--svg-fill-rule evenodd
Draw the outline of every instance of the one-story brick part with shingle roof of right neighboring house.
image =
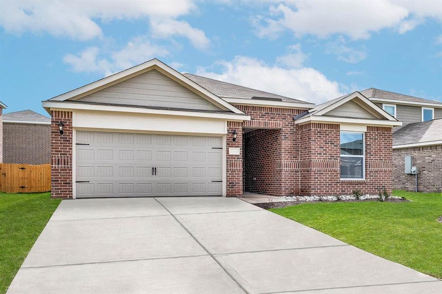
<svg viewBox="0 0 442 294">
<path fill-rule="evenodd" d="M 416 176 L 405 173 L 405 156 L 418 169 L 419 192 L 442 191 L 442 119 L 409 123 L 393 133 L 394 187 L 415 191 Z"/>
</svg>

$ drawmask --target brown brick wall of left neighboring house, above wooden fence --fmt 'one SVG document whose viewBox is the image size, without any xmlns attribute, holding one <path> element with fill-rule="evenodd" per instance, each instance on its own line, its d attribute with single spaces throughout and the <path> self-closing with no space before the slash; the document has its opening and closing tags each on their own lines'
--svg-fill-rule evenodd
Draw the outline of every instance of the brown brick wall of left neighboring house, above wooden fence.
<svg viewBox="0 0 442 294">
<path fill-rule="evenodd" d="M 51 125 L 3 123 L 3 162 L 48 164 L 51 161 Z"/>
</svg>

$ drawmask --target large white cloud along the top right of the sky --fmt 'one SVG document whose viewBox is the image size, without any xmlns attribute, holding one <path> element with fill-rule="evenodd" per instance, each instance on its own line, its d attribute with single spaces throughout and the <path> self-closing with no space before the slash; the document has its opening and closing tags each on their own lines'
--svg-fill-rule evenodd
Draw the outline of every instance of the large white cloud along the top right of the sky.
<svg viewBox="0 0 442 294">
<path fill-rule="evenodd" d="M 426 18 L 442 20 L 440 1 L 286 1 L 271 5 L 268 17 L 255 17 L 252 23 L 260 37 L 275 38 L 288 29 L 297 37 L 338 33 L 366 39 L 383 28 L 405 33 Z"/>
</svg>

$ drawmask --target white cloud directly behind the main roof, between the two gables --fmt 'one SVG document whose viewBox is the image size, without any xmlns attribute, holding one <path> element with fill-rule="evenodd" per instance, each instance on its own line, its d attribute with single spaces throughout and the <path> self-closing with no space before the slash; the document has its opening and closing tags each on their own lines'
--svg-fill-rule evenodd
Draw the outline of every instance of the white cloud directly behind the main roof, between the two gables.
<svg viewBox="0 0 442 294">
<path fill-rule="evenodd" d="M 220 73 L 200 68 L 197 74 L 314 103 L 343 95 L 338 82 L 312 68 L 287 69 L 246 56 L 216 64 L 222 67 Z"/>
</svg>

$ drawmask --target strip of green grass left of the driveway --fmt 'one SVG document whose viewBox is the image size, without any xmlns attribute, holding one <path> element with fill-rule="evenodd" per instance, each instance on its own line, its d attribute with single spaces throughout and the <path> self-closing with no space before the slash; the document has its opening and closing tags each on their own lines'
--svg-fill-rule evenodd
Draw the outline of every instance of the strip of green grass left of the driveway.
<svg viewBox="0 0 442 294">
<path fill-rule="evenodd" d="M 0 193 L 0 293 L 5 293 L 61 200 L 50 193 Z"/>
</svg>

